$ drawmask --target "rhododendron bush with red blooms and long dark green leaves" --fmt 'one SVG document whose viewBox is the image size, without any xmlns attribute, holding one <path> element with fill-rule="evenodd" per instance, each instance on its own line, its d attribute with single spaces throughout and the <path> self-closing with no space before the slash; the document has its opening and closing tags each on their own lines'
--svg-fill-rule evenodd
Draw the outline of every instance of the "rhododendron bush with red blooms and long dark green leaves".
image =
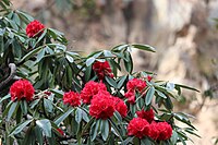
<svg viewBox="0 0 218 145">
<path fill-rule="evenodd" d="M 171 145 L 197 135 L 191 116 L 174 112 L 172 104 L 182 89 L 196 89 L 133 72 L 131 50 L 153 47 L 119 45 L 85 56 L 8 0 L 0 7 L 3 145 Z"/>
</svg>

